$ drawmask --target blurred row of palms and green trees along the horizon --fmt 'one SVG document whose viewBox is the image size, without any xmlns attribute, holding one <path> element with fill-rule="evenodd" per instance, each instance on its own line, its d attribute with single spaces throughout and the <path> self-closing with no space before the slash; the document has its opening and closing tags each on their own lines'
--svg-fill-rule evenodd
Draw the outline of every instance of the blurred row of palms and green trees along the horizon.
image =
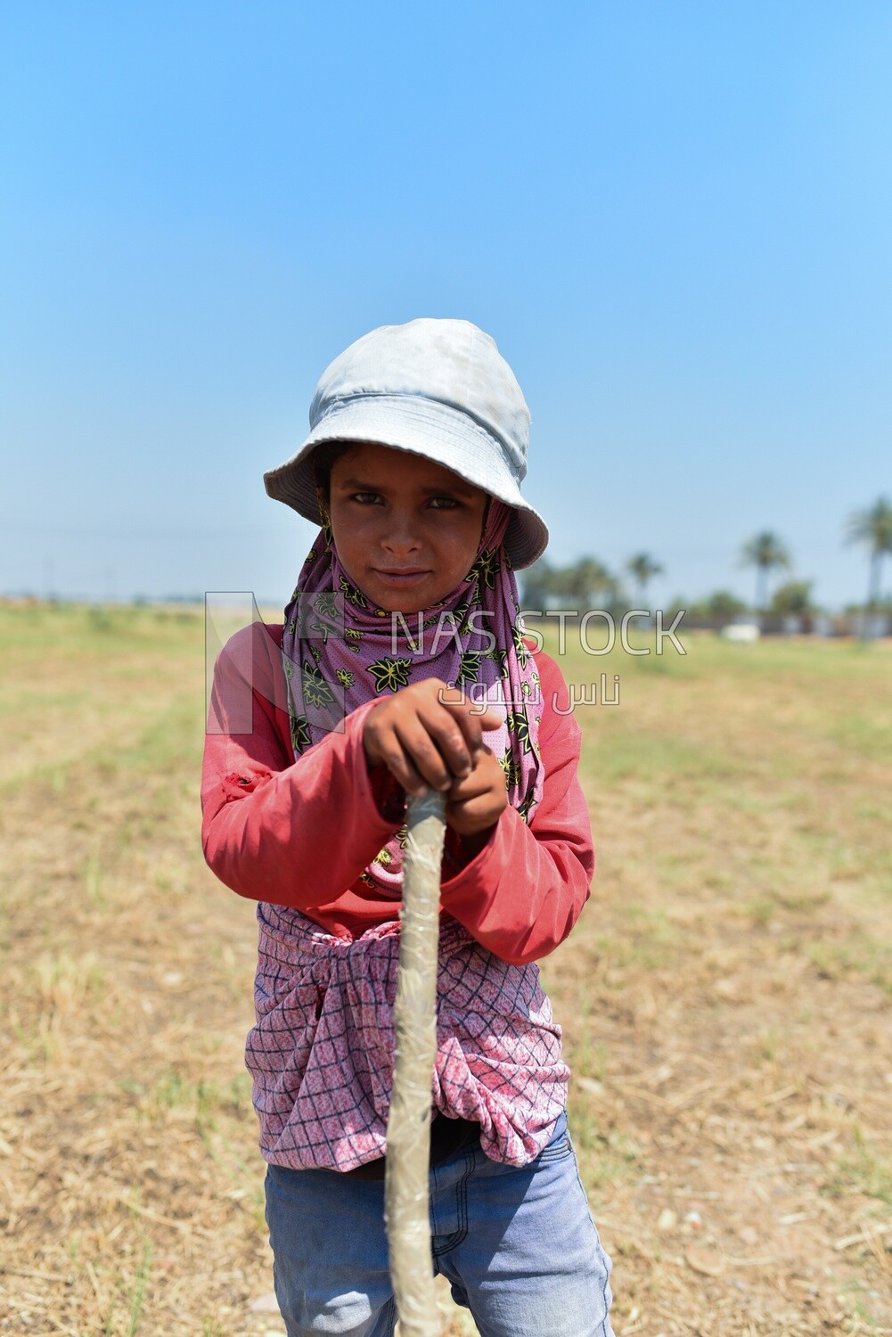
<svg viewBox="0 0 892 1337">
<path fill-rule="evenodd" d="M 845 540 L 863 544 L 868 552 L 868 591 L 865 611 L 892 612 L 892 599 L 881 598 L 883 559 L 892 556 L 892 503 L 879 497 L 873 505 L 856 511 L 845 525 Z M 754 600 L 748 606 L 729 590 L 717 590 L 695 604 L 683 599 L 673 600 L 673 607 L 686 607 L 694 616 L 710 622 L 730 622 L 744 612 L 758 616 L 808 616 L 817 608 L 812 602 L 813 580 L 788 579 L 777 586 L 770 600 L 769 583 L 776 572 L 792 571 L 793 560 L 784 540 L 770 529 L 753 535 L 742 544 L 741 564 L 754 570 Z M 663 567 L 649 552 L 635 552 L 614 572 L 596 558 L 586 556 L 567 567 L 555 567 L 540 558 L 523 574 L 524 608 L 629 608 L 634 602 L 646 607 L 647 586 L 663 575 Z M 631 588 L 630 588 L 631 586 Z"/>
</svg>

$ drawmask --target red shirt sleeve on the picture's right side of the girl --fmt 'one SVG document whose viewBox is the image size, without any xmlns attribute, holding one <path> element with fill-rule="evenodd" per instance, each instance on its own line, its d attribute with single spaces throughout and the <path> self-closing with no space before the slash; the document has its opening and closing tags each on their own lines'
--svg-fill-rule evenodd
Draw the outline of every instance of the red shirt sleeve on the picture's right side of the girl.
<svg viewBox="0 0 892 1337">
<path fill-rule="evenodd" d="M 487 844 L 443 884 L 441 905 L 496 956 L 520 965 L 552 952 L 586 904 L 595 868 L 591 822 L 578 777 L 582 730 L 558 664 L 536 655 L 546 771 L 530 825 L 507 808 Z"/>
</svg>

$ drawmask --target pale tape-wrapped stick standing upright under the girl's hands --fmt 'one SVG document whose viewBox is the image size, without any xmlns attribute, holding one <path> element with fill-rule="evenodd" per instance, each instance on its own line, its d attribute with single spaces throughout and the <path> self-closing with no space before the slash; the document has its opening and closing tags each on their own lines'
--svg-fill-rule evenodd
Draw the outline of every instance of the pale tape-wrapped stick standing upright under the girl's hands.
<svg viewBox="0 0 892 1337">
<path fill-rule="evenodd" d="M 436 984 L 445 800 L 409 798 L 403 862 L 403 929 L 393 1023 L 384 1222 L 400 1337 L 437 1337 L 428 1170 L 431 1076 L 437 1050 Z"/>
</svg>

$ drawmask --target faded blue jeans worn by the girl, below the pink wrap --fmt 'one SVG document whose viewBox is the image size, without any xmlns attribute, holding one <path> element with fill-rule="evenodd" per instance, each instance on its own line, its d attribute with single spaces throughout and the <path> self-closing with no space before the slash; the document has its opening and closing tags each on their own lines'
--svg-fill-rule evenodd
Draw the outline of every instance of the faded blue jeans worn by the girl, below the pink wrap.
<svg viewBox="0 0 892 1337">
<path fill-rule="evenodd" d="M 289 1337 L 393 1337 L 384 1185 L 269 1166 L 266 1222 Z M 518 1170 L 479 1146 L 431 1171 L 435 1271 L 481 1337 L 612 1337 L 610 1258 L 562 1115 Z"/>
</svg>

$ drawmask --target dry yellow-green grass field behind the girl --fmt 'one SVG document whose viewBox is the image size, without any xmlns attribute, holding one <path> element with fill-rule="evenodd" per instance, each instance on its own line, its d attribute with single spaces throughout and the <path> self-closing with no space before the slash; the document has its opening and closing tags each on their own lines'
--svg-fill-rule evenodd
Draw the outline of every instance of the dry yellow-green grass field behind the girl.
<svg viewBox="0 0 892 1337">
<path fill-rule="evenodd" d="M 686 646 L 564 659 L 621 675 L 543 963 L 617 1334 L 892 1333 L 892 647 Z M 201 615 L 4 606 L 0 647 L 0 1333 L 281 1333 Z"/>
</svg>

